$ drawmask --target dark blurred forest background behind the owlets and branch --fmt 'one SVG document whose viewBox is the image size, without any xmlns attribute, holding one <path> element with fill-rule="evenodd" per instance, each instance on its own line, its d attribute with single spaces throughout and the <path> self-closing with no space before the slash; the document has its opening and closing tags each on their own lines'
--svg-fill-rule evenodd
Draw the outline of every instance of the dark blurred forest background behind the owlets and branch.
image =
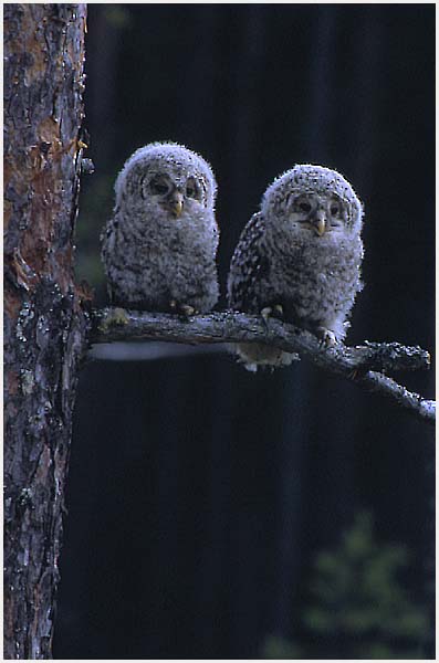
<svg viewBox="0 0 439 663">
<path fill-rule="evenodd" d="M 322 164 L 365 204 L 348 343 L 433 349 L 435 6 L 92 3 L 86 72 L 96 305 L 115 177 L 170 139 L 216 172 L 222 293 L 268 183 Z M 435 656 L 432 431 L 305 361 L 118 356 L 80 381 L 55 657 Z"/>
</svg>

